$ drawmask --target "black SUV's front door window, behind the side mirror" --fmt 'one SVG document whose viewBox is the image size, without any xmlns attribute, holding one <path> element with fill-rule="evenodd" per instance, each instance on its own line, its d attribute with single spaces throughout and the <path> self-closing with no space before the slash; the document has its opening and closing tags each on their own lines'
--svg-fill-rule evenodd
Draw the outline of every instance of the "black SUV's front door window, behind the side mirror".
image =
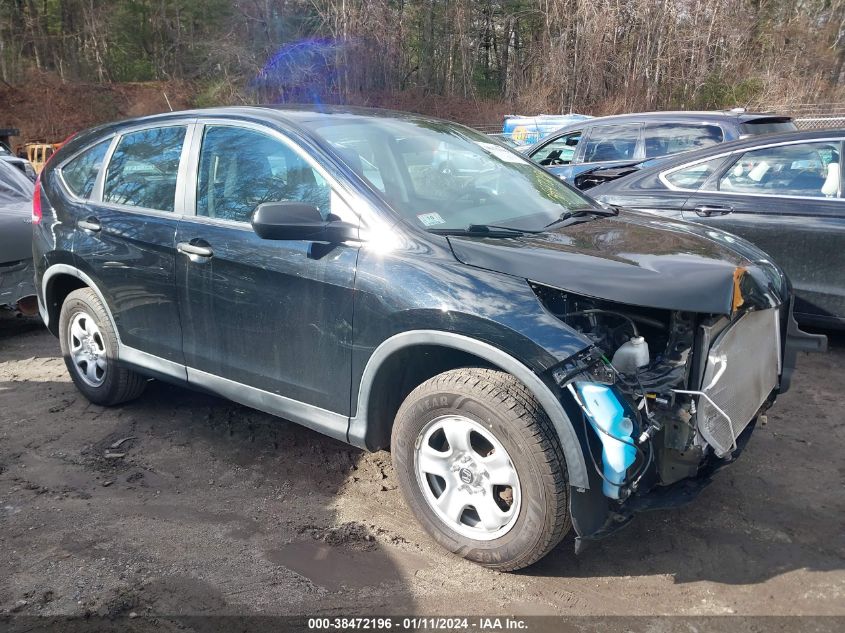
<svg viewBox="0 0 845 633">
<path fill-rule="evenodd" d="M 264 202 L 313 204 L 324 218 L 331 189 L 323 177 L 278 139 L 244 128 L 205 129 L 197 179 L 197 215 L 249 222 Z"/>
</svg>

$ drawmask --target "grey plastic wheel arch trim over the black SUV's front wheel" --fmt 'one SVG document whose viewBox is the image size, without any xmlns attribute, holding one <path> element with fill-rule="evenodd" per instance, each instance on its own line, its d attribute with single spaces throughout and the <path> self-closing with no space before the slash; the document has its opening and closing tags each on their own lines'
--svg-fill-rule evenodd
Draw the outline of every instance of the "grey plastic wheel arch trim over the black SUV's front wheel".
<svg viewBox="0 0 845 633">
<path fill-rule="evenodd" d="M 439 345 L 473 354 L 520 380 L 537 398 L 554 425 L 566 458 L 569 485 L 584 489 L 590 487 L 587 465 L 581 452 L 581 442 L 563 405 L 548 386 L 529 367 L 507 352 L 489 343 L 454 332 L 441 330 L 401 332 L 386 339 L 375 349 L 361 375 L 361 382 L 358 386 L 358 404 L 354 417 L 349 420 L 347 441 L 350 444 L 366 448 L 367 408 L 372 395 L 373 383 L 381 366 L 394 353 L 419 345 Z"/>
</svg>

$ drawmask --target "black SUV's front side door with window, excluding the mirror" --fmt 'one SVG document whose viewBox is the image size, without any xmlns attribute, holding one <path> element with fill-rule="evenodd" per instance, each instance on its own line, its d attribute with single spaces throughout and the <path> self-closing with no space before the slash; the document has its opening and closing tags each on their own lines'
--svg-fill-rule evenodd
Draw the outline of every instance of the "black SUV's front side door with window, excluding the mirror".
<svg viewBox="0 0 845 633">
<path fill-rule="evenodd" d="M 345 438 L 358 245 L 263 240 L 250 219 L 270 201 L 357 216 L 322 168 L 263 126 L 206 121 L 191 164 L 195 215 L 177 234 L 189 381 L 312 426 L 320 409 L 320 430 Z"/>
</svg>

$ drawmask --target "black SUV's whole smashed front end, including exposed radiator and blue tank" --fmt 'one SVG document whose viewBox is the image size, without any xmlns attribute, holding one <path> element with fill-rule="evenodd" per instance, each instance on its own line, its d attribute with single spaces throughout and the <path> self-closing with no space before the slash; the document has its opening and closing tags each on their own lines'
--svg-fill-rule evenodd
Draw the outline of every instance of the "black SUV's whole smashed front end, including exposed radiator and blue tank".
<svg viewBox="0 0 845 633">
<path fill-rule="evenodd" d="M 738 270 L 730 314 L 624 305 L 532 284 L 547 310 L 592 342 L 552 370 L 590 476 L 590 489 L 571 501 L 577 551 L 639 511 L 692 500 L 774 403 L 790 308 L 755 296 Z"/>
</svg>

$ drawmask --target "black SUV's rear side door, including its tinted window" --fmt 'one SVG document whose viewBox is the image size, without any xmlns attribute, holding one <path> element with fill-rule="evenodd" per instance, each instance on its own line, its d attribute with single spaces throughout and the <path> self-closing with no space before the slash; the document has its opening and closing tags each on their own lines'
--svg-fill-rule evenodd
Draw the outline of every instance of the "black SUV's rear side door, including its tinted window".
<svg viewBox="0 0 845 633">
<path fill-rule="evenodd" d="M 74 213 L 77 266 L 104 295 L 121 342 L 176 364 L 183 362 L 174 277 L 177 190 L 184 187 L 182 154 L 192 129 L 179 121 L 117 135 L 94 191 Z M 167 373 L 179 375 L 170 367 Z"/>
</svg>

